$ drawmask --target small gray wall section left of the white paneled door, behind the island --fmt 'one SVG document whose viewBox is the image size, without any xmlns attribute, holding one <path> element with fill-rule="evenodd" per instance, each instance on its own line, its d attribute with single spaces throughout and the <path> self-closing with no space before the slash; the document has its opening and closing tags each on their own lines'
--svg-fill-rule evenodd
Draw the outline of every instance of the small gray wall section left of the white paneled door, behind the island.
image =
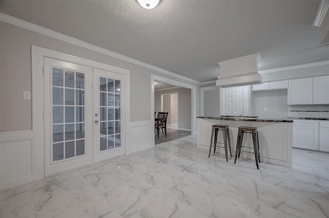
<svg viewBox="0 0 329 218">
<path fill-rule="evenodd" d="M 204 115 L 205 116 L 220 115 L 220 92 L 218 89 L 205 91 Z"/>
</svg>

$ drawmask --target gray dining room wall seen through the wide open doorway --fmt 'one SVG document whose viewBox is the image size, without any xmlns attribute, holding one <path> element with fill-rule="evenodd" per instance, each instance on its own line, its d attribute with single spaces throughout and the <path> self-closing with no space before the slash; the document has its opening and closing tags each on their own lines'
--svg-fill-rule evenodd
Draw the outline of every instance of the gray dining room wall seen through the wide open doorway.
<svg viewBox="0 0 329 218">
<path fill-rule="evenodd" d="M 161 94 L 178 93 L 178 129 L 191 129 L 191 89 L 177 88 L 154 92 L 154 108 L 161 108 Z"/>
</svg>

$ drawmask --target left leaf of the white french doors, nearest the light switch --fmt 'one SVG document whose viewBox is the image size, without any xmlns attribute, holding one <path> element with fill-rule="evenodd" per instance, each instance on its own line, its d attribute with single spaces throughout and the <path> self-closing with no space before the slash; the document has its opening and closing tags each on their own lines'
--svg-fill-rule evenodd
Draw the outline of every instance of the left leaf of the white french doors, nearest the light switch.
<svg viewBox="0 0 329 218">
<path fill-rule="evenodd" d="M 45 176 L 93 162 L 92 68 L 44 57 Z"/>
</svg>

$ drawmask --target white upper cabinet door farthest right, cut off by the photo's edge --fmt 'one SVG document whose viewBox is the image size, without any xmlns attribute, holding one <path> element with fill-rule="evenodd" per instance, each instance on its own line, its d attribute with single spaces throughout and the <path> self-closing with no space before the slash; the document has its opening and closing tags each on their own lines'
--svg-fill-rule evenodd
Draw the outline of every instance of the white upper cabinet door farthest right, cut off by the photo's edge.
<svg viewBox="0 0 329 218">
<path fill-rule="evenodd" d="M 314 77 L 313 104 L 329 104 L 329 75 Z"/>
</svg>

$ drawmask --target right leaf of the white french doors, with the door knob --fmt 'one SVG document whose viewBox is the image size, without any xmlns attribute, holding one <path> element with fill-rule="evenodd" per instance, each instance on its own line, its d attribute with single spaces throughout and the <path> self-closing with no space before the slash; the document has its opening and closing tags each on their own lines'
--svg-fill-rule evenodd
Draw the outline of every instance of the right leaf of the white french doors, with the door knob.
<svg viewBox="0 0 329 218">
<path fill-rule="evenodd" d="M 94 69 L 94 161 L 125 154 L 124 75 Z"/>
</svg>

